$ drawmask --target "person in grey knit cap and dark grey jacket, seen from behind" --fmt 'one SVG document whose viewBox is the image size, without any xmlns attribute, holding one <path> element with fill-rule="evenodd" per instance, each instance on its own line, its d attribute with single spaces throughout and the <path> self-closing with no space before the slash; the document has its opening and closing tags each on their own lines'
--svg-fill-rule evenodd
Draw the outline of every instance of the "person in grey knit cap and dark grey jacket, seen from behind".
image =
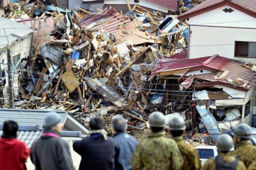
<svg viewBox="0 0 256 170">
<path fill-rule="evenodd" d="M 31 161 L 36 170 L 74 170 L 68 144 L 60 138 L 61 117 L 49 112 L 44 118 L 44 132 L 31 147 Z"/>
</svg>

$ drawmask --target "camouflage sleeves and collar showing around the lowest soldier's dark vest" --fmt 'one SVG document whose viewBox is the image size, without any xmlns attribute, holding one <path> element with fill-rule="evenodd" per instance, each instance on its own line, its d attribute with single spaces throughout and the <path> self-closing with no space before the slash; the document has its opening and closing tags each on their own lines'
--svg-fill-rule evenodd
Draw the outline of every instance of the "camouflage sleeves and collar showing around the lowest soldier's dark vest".
<svg viewBox="0 0 256 170">
<path fill-rule="evenodd" d="M 222 158 L 222 160 L 225 163 L 231 163 L 234 162 L 236 157 L 231 156 L 230 153 L 220 153 L 219 156 Z M 203 165 L 201 170 L 216 170 L 216 163 L 214 158 L 209 158 L 205 164 Z M 237 170 L 246 170 L 245 165 L 242 161 L 239 161 Z"/>
</svg>

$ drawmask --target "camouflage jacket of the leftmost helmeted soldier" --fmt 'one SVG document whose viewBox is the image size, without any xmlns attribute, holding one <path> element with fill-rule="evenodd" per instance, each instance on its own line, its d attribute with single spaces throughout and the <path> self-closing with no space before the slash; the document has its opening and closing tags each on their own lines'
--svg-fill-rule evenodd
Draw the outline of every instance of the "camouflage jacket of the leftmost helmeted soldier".
<svg viewBox="0 0 256 170">
<path fill-rule="evenodd" d="M 162 132 L 150 133 L 140 140 L 135 149 L 131 165 L 134 170 L 179 170 L 183 159 L 174 140 Z"/>
</svg>

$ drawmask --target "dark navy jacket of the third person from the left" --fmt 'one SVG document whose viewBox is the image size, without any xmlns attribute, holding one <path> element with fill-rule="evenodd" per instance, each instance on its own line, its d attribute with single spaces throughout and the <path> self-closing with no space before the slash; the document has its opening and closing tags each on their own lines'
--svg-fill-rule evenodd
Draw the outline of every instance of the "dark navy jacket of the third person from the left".
<svg viewBox="0 0 256 170">
<path fill-rule="evenodd" d="M 73 144 L 73 149 L 82 160 L 79 170 L 114 170 L 115 168 L 115 142 L 112 138 L 93 133 Z"/>
</svg>

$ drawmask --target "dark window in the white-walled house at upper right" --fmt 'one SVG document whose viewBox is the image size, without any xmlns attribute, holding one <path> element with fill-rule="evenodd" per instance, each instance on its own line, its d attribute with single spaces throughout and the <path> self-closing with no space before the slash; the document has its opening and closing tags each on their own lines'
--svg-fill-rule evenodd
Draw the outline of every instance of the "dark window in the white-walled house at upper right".
<svg viewBox="0 0 256 170">
<path fill-rule="evenodd" d="M 256 43 L 255 42 L 235 42 L 235 57 L 256 58 Z"/>
</svg>

